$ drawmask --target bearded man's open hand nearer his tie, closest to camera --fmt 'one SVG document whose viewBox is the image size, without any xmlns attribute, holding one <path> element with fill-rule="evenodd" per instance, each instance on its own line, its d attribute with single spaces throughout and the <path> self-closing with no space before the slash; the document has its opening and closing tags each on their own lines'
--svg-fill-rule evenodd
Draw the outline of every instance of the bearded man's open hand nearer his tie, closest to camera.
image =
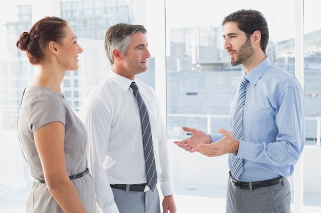
<svg viewBox="0 0 321 213">
<path fill-rule="evenodd" d="M 192 148 L 192 152 L 199 152 L 209 157 L 221 156 L 227 153 L 237 154 L 239 141 L 233 137 L 232 132 L 219 128 L 219 133 L 224 137 L 212 144 L 199 144 L 197 147 Z"/>
</svg>

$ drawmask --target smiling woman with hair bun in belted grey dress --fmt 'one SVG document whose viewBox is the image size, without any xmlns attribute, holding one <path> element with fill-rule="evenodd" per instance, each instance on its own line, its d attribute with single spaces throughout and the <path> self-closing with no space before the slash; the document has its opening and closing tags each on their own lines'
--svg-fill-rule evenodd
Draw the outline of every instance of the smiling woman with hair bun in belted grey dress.
<svg viewBox="0 0 321 213">
<path fill-rule="evenodd" d="M 17 124 L 34 178 L 26 212 L 96 212 L 87 132 L 61 90 L 66 70 L 78 69 L 83 49 L 72 28 L 58 17 L 38 20 L 16 45 L 39 66 L 39 74 L 25 88 Z"/>
</svg>

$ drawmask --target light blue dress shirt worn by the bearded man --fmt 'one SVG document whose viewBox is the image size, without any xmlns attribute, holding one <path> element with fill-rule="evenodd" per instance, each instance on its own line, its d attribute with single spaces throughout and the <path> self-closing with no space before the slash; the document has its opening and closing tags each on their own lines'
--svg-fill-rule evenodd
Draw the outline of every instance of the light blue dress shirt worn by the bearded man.
<svg viewBox="0 0 321 213">
<path fill-rule="evenodd" d="M 243 158 L 243 173 L 238 178 L 254 182 L 289 177 L 304 148 L 304 94 L 297 79 L 266 58 L 246 78 L 243 115 L 243 140 L 237 157 Z M 238 87 L 232 93 L 230 127 Z M 211 134 L 212 142 L 222 138 Z M 232 154 L 229 154 L 231 168 Z"/>
</svg>

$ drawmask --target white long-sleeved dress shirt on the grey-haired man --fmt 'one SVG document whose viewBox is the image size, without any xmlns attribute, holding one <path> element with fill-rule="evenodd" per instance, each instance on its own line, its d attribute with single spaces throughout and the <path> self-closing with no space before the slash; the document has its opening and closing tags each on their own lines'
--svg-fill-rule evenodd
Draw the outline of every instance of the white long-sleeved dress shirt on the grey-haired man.
<svg viewBox="0 0 321 213">
<path fill-rule="evenodd" d="M 137 78 L 152 130 L 158 183 L 163 196 L 173 195 L 165 124 L 155 91 Z M 132 81 L 110 72 L 87 97 L 79 112 L 89 136 L 90 171 L 105 213 L 119 212 L 110 184 L 146 183 L 141 119 L 130 88 Z"/>
</svg>

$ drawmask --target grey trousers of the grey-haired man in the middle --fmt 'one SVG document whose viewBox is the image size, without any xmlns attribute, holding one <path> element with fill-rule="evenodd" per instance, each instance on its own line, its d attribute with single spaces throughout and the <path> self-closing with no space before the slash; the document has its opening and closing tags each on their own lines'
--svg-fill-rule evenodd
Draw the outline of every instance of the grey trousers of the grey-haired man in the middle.
<svg viewBox="0 0 321 213">
<path fill-rule="evenodd" d="M 120 213 L 160 213 L 157 187 L 154 191 L 125 192 L 111 188 Z"/>
</svg>

